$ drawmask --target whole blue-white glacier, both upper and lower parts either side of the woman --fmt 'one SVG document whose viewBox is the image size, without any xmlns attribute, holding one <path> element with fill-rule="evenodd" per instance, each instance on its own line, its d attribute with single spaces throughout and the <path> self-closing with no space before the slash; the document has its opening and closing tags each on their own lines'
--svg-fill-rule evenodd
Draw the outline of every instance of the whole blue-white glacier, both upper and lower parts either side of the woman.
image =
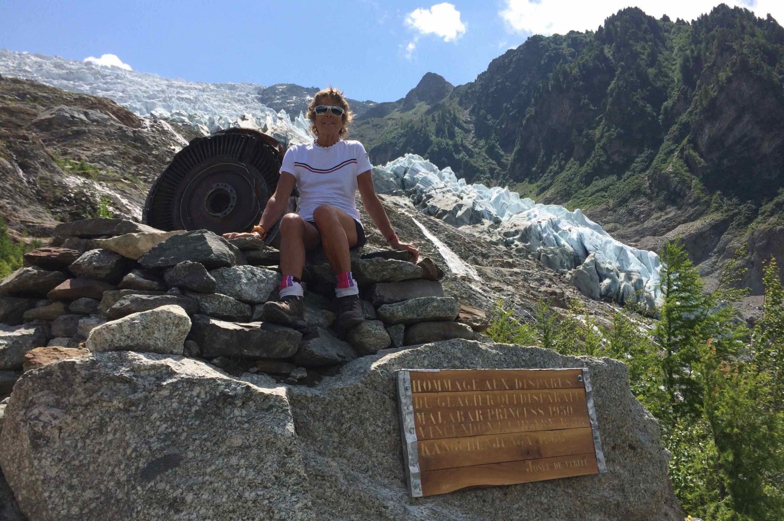
<svg viewBox="0 0 784 521">
<path fill-rule="evenodd" d="M 285 110 L 276 112 L 260 103 L 256 93 L 262 87 L 256 84 L 162 78 L 8 49 L 0 49 L 0 74 L 104 96 L 141 117 L 190 126 L 202 134 L 241 127 L 265 132 L 286 145 L 314 138 L 301 112 L 290 118 Z M 179 140 L 185 144 L 181 136 Z M 437 168 L 414 154 L 374 166 L 373 179 L 379 193 L 405 194 L 426 215 L 532 255 L 591 298 L 649 308 L 662 301 L 659 255 L 616 241 L 579 209 L 537 204 L 499 186 L 469 184 L 452 168 Z M 474 276 L 466 270 L 457 271 Z"/>
</svg>

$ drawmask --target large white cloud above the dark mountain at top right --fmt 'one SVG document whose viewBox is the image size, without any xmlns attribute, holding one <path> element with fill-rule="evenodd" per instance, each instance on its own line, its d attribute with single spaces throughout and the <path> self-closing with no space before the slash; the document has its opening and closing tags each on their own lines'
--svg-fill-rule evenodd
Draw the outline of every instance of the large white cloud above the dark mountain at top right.
<svg viewBox="0 0 784 521">
<path fill-rule="evenodd" d="M 779 24 L 784 24 L 781 0 L 506 0 L 506 8 L 499 11 L 499 16 L 511 31 L 549 35 L 595 31 L 604 19 L 626 7 L 639 7 L 656 18 L 666 14 L 672 20 L 694 20 L 720 3 L 746 7 L 760 18 L 771 13 Z"/>
</svg>

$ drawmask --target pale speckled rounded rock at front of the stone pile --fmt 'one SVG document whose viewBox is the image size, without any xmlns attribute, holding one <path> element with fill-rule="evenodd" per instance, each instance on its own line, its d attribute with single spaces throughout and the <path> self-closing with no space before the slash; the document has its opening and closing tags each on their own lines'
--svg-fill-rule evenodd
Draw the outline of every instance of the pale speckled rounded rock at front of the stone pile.
<svg viewBox="0 0 784 521">
<path fill-rule="evenodd" d="M 191 331 L 191 319 L 184 309 L 162 306 L 93 328 L 85 347 L 94 353 L 139 351 L 181 355 L 188 331 Z"/>
</svg>

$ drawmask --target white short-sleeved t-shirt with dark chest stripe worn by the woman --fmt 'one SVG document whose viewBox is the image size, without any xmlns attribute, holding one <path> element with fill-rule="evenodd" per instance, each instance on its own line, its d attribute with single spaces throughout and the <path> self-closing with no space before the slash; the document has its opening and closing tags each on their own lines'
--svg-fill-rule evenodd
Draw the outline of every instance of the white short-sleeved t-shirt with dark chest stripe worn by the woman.
<svg viewBox="0 0 784 521">
<path fill-rule="evenodd" d="M 372 166 L 365 147 L 358 141 L 341 139 L 332 147 L 315 143 L 296 145 L 286 150 L 281 173 L 296 177 L 299 190 L 298 214 L 306 221 L 321 204 L 331 204 L 359 221 L 357 176 Z"/>
</svg>

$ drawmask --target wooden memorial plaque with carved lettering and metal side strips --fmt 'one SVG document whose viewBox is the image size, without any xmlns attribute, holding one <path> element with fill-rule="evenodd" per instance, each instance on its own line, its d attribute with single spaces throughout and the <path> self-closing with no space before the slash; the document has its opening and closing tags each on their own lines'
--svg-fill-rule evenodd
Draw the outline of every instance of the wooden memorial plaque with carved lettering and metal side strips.
<svg viewBox="0 0 784 521">
<path fill-rule="evenodd" d="M 587 368 L 397 371 L 412 497 L 605 472 Z"/>
</svg>

